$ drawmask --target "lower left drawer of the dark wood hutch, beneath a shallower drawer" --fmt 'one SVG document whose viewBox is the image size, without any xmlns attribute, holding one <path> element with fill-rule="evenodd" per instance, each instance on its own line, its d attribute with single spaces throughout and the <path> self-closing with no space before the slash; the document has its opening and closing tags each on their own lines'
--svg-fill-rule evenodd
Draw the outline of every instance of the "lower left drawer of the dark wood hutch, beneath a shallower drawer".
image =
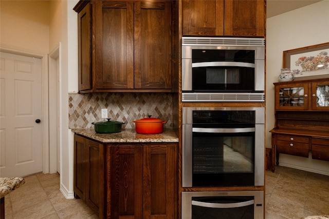
<svg viewBox="0 0 329 219">
<path fill-rule="evenodd" d="M 290 141 L 288 142 L 278 140 L 277 152 L 295 156 L 308 157 L 308 144 L 297 142 L 291 143 Z"/>
</svg>

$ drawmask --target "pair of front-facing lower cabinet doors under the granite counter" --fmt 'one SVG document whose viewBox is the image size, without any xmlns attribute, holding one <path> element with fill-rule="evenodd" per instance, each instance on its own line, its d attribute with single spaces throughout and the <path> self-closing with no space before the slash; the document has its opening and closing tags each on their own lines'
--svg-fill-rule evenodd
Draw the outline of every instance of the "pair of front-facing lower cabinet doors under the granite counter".
<svg viewBox="0 0 329 219">
<path fill-rule="evenodd" d="M 177 144 L 118 145 L 107 150 L 107 217 L 177 218 Z"/>
</svg>

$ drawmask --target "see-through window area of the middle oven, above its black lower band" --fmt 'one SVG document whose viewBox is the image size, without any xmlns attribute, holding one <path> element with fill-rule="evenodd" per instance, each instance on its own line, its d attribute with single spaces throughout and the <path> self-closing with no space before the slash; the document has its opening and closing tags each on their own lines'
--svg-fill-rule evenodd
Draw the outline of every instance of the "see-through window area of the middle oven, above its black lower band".
<svg viewBox="0 0 329 219">
<path fill-rule="evenodd" d="M 193 135 L 193 173 L 253 172 L 253 136 Z"/>
</svg>

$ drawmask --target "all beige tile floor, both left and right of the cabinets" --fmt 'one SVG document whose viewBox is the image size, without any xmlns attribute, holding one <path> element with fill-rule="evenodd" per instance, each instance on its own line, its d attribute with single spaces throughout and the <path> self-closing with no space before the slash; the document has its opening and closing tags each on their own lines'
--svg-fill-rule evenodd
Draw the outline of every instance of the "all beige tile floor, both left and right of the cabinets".
<svg viewBox="0 0 329 219">
<path fill-rule="evenodd" d="M 97 218 L 81 200 L 66 200 L 59 175 L 24 177 L 25 184 L 5 197 L 6 219 Z M 286 167 L 266 171 L 266 219 L 300 219 L 329 214 L 329 176 Z"/>
</svg>

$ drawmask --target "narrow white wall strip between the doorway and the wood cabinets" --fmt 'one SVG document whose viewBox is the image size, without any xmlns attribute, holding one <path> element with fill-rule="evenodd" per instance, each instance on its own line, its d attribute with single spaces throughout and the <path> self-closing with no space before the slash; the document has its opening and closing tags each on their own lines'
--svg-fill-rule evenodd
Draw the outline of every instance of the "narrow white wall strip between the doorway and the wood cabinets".
<svg viewBox="0 0 329 219">
<path fill-rule="evenodd" d="M 74 198 L 74 133 L 68 129 L 68 93 L 78 92 L 78 18 L 73 10 L 77 0 L 62 1 L 62 47 L 60 74 L 61 191 Z"/>
</svg>

